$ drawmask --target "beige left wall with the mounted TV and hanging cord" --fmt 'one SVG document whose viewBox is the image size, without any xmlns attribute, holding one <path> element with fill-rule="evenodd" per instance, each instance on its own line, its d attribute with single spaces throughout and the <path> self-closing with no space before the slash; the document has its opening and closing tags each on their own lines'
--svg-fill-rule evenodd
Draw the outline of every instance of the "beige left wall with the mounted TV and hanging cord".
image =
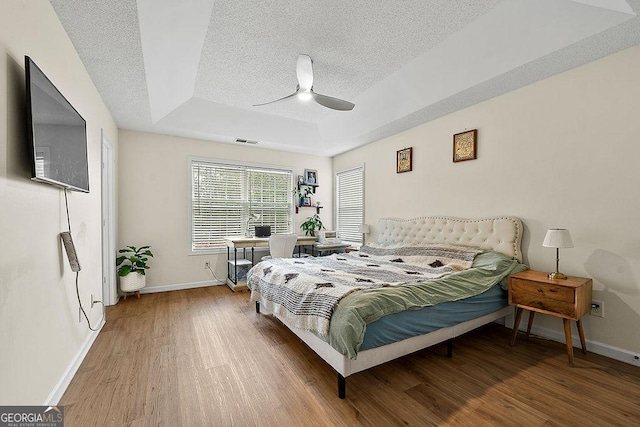
<svg viewBox="0 0 640 427">
<path fill-rule="evenodd" d="M 69 194 L 82 265 L 80 296 L 92 324 L 100 306 L 101 128 L 117 128 L 47 1 L 0 3 L 0 405 L 41 405 L 90 336 L 78 321 L 75 275 L 58 235 L 67 229 L 62 190 L 30 178 L 24 55 L 87 122 L 91 193 Z"/>
</svg>

